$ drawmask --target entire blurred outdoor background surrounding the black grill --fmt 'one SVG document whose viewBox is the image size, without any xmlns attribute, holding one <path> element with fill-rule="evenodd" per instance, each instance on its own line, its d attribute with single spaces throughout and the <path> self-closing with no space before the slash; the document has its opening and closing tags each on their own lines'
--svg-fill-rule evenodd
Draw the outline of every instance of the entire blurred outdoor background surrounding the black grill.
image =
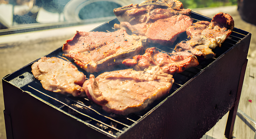
<svg viewBox="0 0 256 139">
<path fill-rule="evenodd" d="M 239 109 L 256 119 L 256 18 L 253 7 L 256 2 L 180 1 L 184 8 L 210 18 L 219 12 L 229 13 L 236 28 L 252 33 Z M 113 9 L 142 2 L 144 0 L 0 0 L 0 78 L 59 48 L 74 36 L 76 30 L 90 31 L 114 19 Z M 0 139 L 6 139 L 3 110 L 3 87 L 0 80 Z M 226 116 L 204 137 L 225 139 L 225 125 Z M 255 128 L 249 128 L 239 117 L 236 118 L 234 138 L 252 139 L 254 132 Z"/>
</svg>

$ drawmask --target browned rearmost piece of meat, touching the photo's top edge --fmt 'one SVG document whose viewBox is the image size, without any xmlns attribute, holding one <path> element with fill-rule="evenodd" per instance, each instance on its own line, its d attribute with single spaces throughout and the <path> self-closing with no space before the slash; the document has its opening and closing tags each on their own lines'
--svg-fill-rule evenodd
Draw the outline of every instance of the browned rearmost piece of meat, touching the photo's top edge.
<svg viewBox="0 0 256 139">
<path fill-rule="evenodd" d="M 149 16 L 149 12 L 157 8 L 183 9 L 183 5 L 178 0 L 147 0 L 141 4 L 130 4 L 116 8 L 114 13 L 119 22 L 129 22 L 131 25 L 135 25 L 137 23 L 144 23 Z"/>
</svg>

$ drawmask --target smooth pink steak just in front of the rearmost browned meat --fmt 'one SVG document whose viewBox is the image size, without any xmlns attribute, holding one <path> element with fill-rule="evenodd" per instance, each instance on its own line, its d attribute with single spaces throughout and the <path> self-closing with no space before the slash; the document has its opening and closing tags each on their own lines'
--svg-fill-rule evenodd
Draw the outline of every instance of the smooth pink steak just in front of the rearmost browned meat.
<svg viewBox="0 0 256 139">
<path fill-rule="evenodd" d="M 185 32 L 192 22 L 192 18 L 181 14 L 159 19 L 154 23 L 131 25 L 128 22 L 121 22 L 120 26 L 131 31 L 133 34 L 147 36 L 152 43 L 172 45 L 179 34 Z"/>
</svg>

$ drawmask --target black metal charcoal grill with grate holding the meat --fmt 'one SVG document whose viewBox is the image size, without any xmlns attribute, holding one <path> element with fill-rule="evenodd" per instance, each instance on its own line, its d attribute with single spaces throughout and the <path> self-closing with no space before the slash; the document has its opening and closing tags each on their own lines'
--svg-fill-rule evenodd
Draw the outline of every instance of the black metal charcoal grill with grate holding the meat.
<svg viewBox="0 0 256 139">
<path fill-rule="evenodd" d="M 192 18 L 211 20 L 194 12 Z M 92 31 L 114 31 L 114 23 L 119 22 Z M 87 98 L 43 89 L 31 72 L 35 60 L 2 79 L 7 139 L 199 139 L 228 112 L 225 136 L 231 138 L 250 38 L 251 33 L 234 28 L 213 50 L 214 58 L 175 73 L 168 96 L 125 116 L 106 113 Z M 172 52 L 174 46 L 158 48 Z M 61 47 L 51 56 L 62 56 Z"/>
</svg>

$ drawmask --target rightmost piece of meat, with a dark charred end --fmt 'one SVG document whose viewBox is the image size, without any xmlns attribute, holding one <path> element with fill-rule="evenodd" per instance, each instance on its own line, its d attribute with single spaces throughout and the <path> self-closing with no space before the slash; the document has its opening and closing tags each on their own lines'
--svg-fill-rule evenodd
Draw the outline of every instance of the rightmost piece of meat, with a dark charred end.
<svg viewBox="0 0 256 139">
<path fill-rule="evenodd" d="M 198 21 L 186 30 L 188 41 L 182 41 L 175 46 L 176 52 L 189 50 L 200 59 L 215 56 L 212 49 L 228 38 L 234 28 L 234 20 L 227 13 L 217 13 L 211 22 Z"/>
</svg>

